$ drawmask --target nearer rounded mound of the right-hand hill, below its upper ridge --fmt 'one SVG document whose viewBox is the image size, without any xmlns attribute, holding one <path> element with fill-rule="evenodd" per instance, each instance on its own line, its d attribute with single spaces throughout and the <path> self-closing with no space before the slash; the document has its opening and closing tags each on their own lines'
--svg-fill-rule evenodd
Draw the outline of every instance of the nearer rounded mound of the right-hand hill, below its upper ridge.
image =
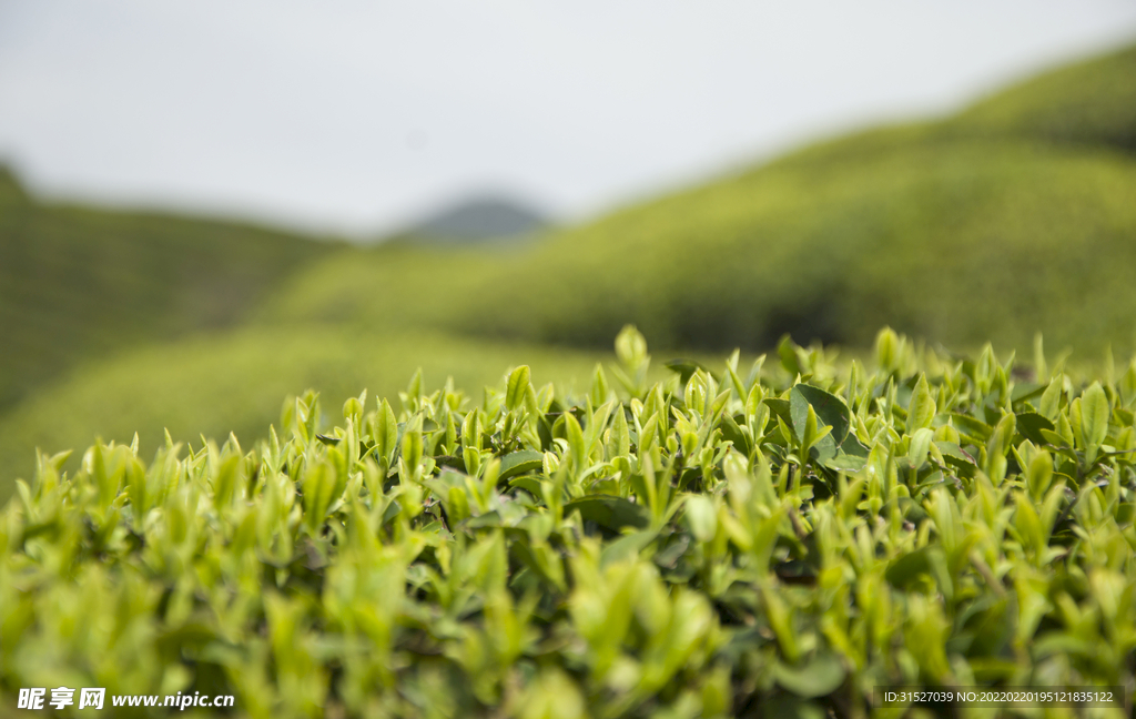
<svg viewBox="0 0 1136 719">
<path fill-rule="evenodd" d="M 885 321 L 953 345 L 1128 341 L 1134 187 L 1127 158 L 1009 142 L 786 161 L 559 237 L 454 325 L 598 343 L 629 318 L 708 348 L 862 345 Z"/>
</svg>

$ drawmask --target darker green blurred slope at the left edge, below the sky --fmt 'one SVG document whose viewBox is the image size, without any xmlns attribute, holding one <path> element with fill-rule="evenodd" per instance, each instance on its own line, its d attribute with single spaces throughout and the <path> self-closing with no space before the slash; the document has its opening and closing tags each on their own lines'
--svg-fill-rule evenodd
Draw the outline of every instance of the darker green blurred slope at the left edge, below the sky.
<svg viewBox="0 0 1136 719">
<path fill-rule="evenodd" d="M 0 167 L 0 408 L 87 358 L 231 326 L 326 243 L 47 204 Z"/>
</svg>

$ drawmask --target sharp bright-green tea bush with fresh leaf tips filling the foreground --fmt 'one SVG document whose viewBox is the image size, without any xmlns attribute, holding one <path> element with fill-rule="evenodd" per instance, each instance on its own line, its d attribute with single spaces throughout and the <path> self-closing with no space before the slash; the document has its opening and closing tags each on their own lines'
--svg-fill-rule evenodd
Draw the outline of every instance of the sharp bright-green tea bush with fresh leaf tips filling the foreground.
<svg viewBox="0 0 1136 719">
<path fill-rule="evenodd" d="M 0 513 L 5 701 L 862 717 L 902 713 L 883 684 L 1130 691 L 1136 363 L 1086 384 L 1039 346 L 1022 370 L 885 331 L 874 367 L 786 341 L 651 384 L 642 335 L 617 354 L 580 396 L 527 366 L 479 402 L 416 376 L 328 428 L 290 400 L 251 448 L 42 454 Z"/>
</svg>

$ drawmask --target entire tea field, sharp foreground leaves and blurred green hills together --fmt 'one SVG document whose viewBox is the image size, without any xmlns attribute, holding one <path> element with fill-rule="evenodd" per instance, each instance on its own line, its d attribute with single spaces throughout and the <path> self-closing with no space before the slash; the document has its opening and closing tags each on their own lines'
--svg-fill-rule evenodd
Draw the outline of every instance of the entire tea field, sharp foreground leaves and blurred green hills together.
<svg viewBox="0 0 1136 719">
<path fill-rule="evenodd" d="M 1134 240 L 1136 48 L 527 244 L 0 170 L 0 716 L 1130 717 Z"/>
</svg>

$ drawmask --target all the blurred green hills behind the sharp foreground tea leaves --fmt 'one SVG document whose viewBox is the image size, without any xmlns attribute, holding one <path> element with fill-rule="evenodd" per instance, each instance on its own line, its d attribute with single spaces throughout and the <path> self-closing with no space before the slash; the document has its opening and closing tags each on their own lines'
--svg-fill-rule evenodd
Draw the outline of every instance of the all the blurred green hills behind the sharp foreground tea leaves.
<svg viewBox="0 0 1136 719">
<path fill-rule="evenodd" d="M 1134 153 L 1136 47 L 527 243 L 351 246 L 44 203 L 2 172 L 0 498 L 34 446 L 252 438 L 309 386 L 586 379 L 626 323 L 670 354 L 854 349 L 885 324 L 1126 354 Z"/>
</svg>

